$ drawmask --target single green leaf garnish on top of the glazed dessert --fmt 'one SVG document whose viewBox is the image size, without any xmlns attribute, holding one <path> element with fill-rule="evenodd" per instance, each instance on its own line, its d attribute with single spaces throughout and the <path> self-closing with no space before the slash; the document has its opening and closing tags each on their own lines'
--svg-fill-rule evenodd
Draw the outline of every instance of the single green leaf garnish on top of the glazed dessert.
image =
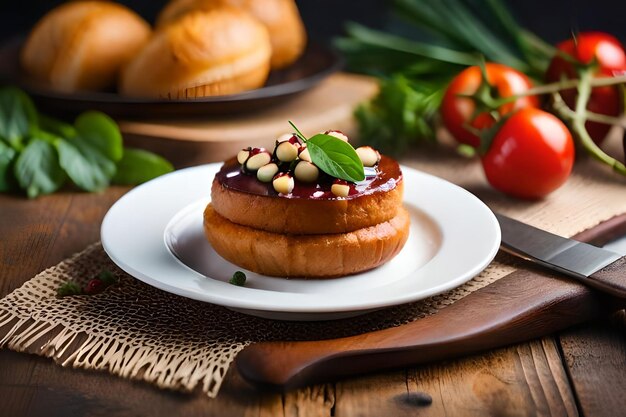
<svg viewBox="0 0 626 417">
<path fill-rule="evenodd" d="M 363 163 L 348 142 L 318 134 L 309 138 L 306 145 L 313 163 L 328 175 L 352 182 L 365 179 Z"/>
</svg>

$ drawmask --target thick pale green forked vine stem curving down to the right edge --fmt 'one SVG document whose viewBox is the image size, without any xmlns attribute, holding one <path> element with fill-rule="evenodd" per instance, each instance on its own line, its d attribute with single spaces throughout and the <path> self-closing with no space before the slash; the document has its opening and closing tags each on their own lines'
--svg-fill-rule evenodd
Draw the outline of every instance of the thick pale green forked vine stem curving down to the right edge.
<svg viewBox="0 0 626 417">
<path fill-rule="evenodd" d="M 587 102 L 589 101 L 589 97 L 591 96 L 591 88 L 593 73 L 590 70 L 583 70 L 580 73 L 580 84 L 578 85 L 578 97 L 576 99 L 576 107 L 574 110 L 574 114 L 572 115 L 570 112 L 564 110 L 567 107 L 561 96 L 558 93 L 555 93 L 557 100 L 560 100 L 560 105 L 556 105 L 555 109 L 559 112 L 559 114 L 566 120 L 570 121 L 572 131 L 578 137 L 581 145 L 596 160 L 610 166 L 613 171 L 626 175 L 626 166 L 622 164 L 617 159 L 607 155 L 596 143 L 591 139 L 587 129 L 585 128 L 586 122 L 586 113 L 587 113 Z"/>
</svg>

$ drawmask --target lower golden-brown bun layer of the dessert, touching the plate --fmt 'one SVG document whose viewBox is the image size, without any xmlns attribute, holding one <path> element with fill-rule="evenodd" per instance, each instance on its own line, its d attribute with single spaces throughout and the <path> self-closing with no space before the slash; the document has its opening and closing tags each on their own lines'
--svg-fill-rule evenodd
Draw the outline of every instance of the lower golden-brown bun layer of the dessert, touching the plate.
<svg viewBox="0 0 626 417">
<path fill-rule="evenodd" d="M 242 268 L 263 275 L 332 278 L 375 268 L 393 258 L 406 243 L 409 213 L 350 233 L 286 235 L 232 223 L 209 204 L 204 232 L 215 251 Z"/>
</svg>

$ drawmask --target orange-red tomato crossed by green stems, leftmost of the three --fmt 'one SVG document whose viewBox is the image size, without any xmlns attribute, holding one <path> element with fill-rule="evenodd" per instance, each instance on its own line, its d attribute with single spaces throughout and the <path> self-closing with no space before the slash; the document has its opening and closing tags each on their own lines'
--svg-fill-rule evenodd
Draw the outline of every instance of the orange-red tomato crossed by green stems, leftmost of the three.
<svg viewBox="0 0 626 417">
<path fill-rule="evenodd" d="M 494 93 L 498 98 L 520 94 L 532 87 L 528 77 L 513 68 L 488 63 L 486 69 L 487 81 L 494 87 Z M 467 130 L 465 126 L 471 125 L 476 129 L 485 129 L 492 126 L 495 120 L 487 112 L 478 114 L 472 120 L 476 103 L 470 98 L 459 97 L 458 94 L 474 94 L 480 86 L 482 78 L 479 67 L 466 68 L 452 80 L 441 103 L 441 115 L 446 128 L 459 142 L 474 147 L 480 145 L 480 139 Z M 498 112 L 505 115 L 528 106 L 538 107 L 539 100 L 537 97 L 519 98 L 501 106 L 498 108 Z"/>
</svg>

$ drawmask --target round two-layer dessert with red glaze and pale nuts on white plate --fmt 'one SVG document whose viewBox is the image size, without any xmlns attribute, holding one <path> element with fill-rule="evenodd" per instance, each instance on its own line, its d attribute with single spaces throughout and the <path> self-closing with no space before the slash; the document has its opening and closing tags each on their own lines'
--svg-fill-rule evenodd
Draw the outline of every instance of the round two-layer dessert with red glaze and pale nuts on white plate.
<svg viewBox="0 0 626 417">
<path fill-rule="evenodd" d="M 364 179 L 325 173 L 311 159 L 312 142 L 296 134 L 278 138 L 272 152 L 246 148 L 224 163 L 204 212 L 219 255 L 264 275 L 331 278 L 375 268 L 400 251 L 410 221 L 398 163 L 341 143 L 347 138 L 339 131 L 323 139 L 339 141 L 363 170 L 356 179 Z"/>
</svg>

